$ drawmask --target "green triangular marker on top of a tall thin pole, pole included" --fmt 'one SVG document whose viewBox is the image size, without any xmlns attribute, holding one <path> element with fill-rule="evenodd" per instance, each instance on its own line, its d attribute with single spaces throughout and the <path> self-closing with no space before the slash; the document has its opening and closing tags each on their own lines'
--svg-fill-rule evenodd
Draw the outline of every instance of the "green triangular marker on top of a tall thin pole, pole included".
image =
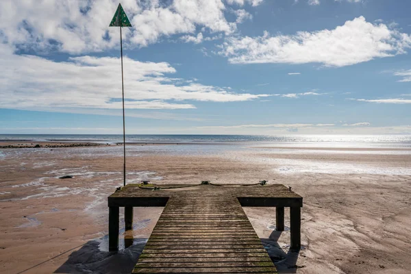
<svg viewBox="0 0 411 274">
<path fill-rule="evenodd" d="M 124 163 L 123 163 L 123 179 L 125 186 L 125 116 L 124 116 L 124 77 L 123 77 L 123 38 L 121 37 L 121 27 L 132 27 L 130 21 L 125 14 L 123 7 L 119 3 L 119 7 L 117 7 L 116 13 L 112 18 L 112 21 L 109 27 L 120 27 L 120 49 L 121 49 L 121 88 L 123 92 L 123 149 L 124 149 Z"/>
</svg>

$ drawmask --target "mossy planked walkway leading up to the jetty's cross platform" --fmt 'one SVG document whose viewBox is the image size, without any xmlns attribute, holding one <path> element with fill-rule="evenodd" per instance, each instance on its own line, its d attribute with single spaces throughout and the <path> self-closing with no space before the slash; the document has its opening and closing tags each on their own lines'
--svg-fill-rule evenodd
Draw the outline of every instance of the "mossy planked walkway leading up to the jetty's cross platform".
<svg viewBox="0 0 411 274">
<path fill-rule="evenodd" d="M 133 273 L 277 273 L 238 199 L 171 198 Z"/>
</svg>

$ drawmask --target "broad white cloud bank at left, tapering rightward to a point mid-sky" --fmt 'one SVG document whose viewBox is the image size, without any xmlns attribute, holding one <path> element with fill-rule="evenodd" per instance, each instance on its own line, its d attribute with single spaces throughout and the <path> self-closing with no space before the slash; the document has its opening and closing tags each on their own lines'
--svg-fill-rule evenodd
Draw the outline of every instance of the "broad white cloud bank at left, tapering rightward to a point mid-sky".
<svg viewBox="0 0 411 274">
<path fill-rule="evenodd" d="M 121 108 L 119 58 L 79 56 L 54 62 L 34 55 L 15 55 L 0 45 L 0 108 Z M 125 107 L 195 108 L 184 101 L 247 101 L 268 97 L 236 93 L 216 86 L 166 75 L 176 70 L 166 62 L 124 58 Z"/>
</svg>

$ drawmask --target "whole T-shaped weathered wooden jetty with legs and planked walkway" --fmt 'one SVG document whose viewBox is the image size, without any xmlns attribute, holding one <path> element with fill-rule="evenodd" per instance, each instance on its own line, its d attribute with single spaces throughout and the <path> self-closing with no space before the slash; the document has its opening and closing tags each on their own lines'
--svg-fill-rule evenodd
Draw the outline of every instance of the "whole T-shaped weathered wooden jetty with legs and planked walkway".
<svg viewBox="0 0 411 274">
<path fill-rule="evenodd" d="M 273 185 L 128 184 L 108 197 L 109 249 L 118 250 L 119 207 L 164 206 L 133 273 L 277 273 L 242 206 L 275 207 L 277 230 L 290 208 L 291 249 L 301 247 L 303 198 Z"/>
</svg>

